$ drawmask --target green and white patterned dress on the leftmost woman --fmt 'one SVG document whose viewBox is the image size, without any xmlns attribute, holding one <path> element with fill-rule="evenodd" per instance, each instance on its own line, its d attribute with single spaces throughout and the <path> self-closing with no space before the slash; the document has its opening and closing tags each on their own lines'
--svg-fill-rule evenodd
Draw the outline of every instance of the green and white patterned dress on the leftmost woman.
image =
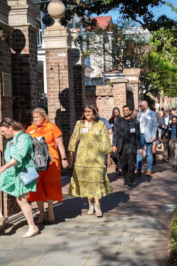
<svg viewBox="0 0 177 266">
<path fill-rule="evenodd" d="M 16 143 L 16 137 L 18 134 L 19 132 L 15 134 L 13 139 L 8 139 L 4 158 L 6 162 L 9 162 L 12 158 L 18 161 L 15 168 L 16 171 L 20 173 L 25 168 L 35 168 L 35 164 L 28 156 L 26 156 L 26 153 L 28 152 L 32 158 L 34 157 L 33 142 L 30 136 L 28 134 L 21 134 L 18 137 L 18 143 Z M 0 175 L 0 190 L 9 193 L 12 196 L 19 197 L 19 195 L 28 191 L 36 192 L 36 184 L 37 180 L 24 186 L 17 176 L 14 167 L 7 168 Z"/>
</svg>

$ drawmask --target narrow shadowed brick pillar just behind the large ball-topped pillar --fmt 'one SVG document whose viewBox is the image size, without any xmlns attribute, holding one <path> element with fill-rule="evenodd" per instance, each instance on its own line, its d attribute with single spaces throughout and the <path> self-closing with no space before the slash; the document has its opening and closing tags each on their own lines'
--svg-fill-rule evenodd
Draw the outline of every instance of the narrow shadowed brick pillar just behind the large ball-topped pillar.
<svg viewBox="0 0 177 266">
<path fill-rule="evenodd" d="M 73 82 L 75 97 L 75 115 L 76 121 L 82 116 L 82 109 L 86 104 L 86 88 L 85 88 L 85 69 L 84 61 L 86 56 L 79 49 L 73 51 Z"/>
</svg>

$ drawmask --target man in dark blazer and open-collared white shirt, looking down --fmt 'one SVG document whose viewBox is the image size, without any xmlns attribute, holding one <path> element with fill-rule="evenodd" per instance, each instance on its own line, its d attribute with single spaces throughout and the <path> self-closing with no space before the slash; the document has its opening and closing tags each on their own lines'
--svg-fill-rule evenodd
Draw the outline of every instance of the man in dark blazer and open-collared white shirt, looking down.
<svg viewBox="0 0 177 266">
<path fill-rule="evenodd" d="M 164 109 L 163 113 L 164 113 L 164 115 L 159 118 L 159 125 L 158 125 L 158 127 L 162 130 L 161 140 L 162 140 L 162 143 L 164 145 L 164 152 L 163 152 L 162 160 L 164 162 L 170 162 L 171 154 L 170 154 L 170 149 L 168 147 L 168 140 L 166 140 L 164 137 L 164 132 L 165 132 L 167 125 L 171 123 L 172 115 L 169 114 L 168 109 Z"/>
</svg>

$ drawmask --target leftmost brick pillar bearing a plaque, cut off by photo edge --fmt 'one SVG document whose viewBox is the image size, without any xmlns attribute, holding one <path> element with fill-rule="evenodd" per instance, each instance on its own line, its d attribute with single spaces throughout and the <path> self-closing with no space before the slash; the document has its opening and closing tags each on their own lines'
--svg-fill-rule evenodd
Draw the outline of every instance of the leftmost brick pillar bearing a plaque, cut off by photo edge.
<svg viewBox="0 0 177 266">
<path fill-rule="evenodd" d="M 3 85 L 2 85 L 2 73 L 12 74 L 11 71 L 11 31 L 13 27 L 8 25 L 8 14 L 11 7 L 7 5 L 7 1 L 0 0 L 0 120 L 5 117 L 13 118 L 12 108 L 12 96 L 3 96 Z M 0 132 L 0 150 L 3 150 L 1 156 L 4 155 L 4 151 L 7 144 L 7 138 L 2 137 Z M 4 156 L 2 157 L 4 162 Z M 1 163 L 1 160 L 0 160 Z M 5 162 L 4 162 L 5 163 Z M 20 210 L 19 205 L 16 202 L 16 197 L 13 197 L 7 193 L 4 194 L 4 215 L 10 216 L 13 213 Z M 1 195 L 0 195 L 1 197 Z"/>
</svg>

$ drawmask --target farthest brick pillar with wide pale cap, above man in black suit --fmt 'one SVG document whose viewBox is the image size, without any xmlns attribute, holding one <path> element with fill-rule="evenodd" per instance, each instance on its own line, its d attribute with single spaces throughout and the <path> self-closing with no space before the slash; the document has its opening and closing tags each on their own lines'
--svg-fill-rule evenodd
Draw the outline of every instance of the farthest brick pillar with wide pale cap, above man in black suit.
<svg viewBox="0 0 177 266">
<path fill-rule="evenodd" d="M 140 87 L 140 68 L 124 69 L 123 76 L 128 79 L 127 86 L 133 91 L 133 108 L 139 110 L 139 87 Z"/>
</svg>

